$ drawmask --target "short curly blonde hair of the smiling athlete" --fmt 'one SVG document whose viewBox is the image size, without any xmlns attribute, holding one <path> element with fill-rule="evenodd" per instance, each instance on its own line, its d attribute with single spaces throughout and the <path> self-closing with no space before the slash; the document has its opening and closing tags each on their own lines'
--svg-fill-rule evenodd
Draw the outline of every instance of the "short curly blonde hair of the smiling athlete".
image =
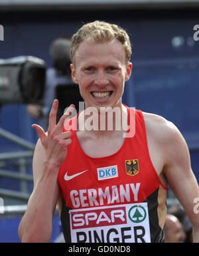
<svg viewBox="0 0 199 256">
<path fill-rule="evenodd" d="M 72 36 L 70 49 L 70 59 L 74 62 L 74 54 L 80 43 L 84 40 L 100 43 L 103 41 L 111 41 L 117 39 L 125 50 L 125 59 L 127 63 L 131 59 L 131 43 L 127 32 L 115 24 L 106 23 L 104 21 L 94 21 L 83 25 L 77 33 Z"/>
</svg>

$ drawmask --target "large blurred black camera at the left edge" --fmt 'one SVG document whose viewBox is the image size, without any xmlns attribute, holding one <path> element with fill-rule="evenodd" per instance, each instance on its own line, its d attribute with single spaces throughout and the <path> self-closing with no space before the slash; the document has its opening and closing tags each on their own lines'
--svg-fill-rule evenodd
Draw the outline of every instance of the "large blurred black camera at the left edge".
<svg viewBox="0 0 199 256">
<path fill-rule="evenodd" d="M 32 56 L 0 59 L 0 104 L 40 102 L 45 78 L 46 64 L 42 59 Z"/>
</svg>

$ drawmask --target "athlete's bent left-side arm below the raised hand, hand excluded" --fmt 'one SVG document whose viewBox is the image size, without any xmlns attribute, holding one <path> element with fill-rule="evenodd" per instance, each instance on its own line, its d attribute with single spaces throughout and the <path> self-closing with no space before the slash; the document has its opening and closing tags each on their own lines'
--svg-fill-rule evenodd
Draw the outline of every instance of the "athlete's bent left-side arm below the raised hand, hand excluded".
<svg viewBox="0 0 199 256">
<path fill-rule="evenodd" d="M 45 152 L 39 140 L 33 157 L 34 189 L 19 226 L 19 237 L 22 242 L 50 241 L 52 218 L 59 195 L 56 179 L 58 167 L 50 166 L 45 158 Z"/>
</svg>

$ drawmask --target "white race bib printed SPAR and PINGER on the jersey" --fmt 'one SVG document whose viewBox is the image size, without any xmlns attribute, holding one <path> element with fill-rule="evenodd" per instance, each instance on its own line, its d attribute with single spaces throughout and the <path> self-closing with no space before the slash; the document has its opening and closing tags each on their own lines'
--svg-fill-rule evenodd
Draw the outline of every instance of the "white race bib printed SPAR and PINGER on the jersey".
<svg viewBox="0 0 199 256">
<path fill-rule="evenodd" d="M 149 243 L 147 202 L 71 209 L 72 243 Z"/>
</svg>

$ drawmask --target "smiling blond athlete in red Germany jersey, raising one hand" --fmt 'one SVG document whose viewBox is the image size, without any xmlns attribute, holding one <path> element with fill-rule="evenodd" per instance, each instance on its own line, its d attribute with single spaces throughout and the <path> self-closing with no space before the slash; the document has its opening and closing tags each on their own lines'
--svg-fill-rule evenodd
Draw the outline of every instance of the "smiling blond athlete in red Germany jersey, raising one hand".
<svg viewBox="0 0 199 256">
<path fill-rule="evenodd" d="M 199 191 L 186 142 L 174 124 L 121 102 L 130 58 L 129 37 L 117 25 L 95 21 L 72 37 L 72 78 L 85 110 L 66 121 L 70 105 L 56 124 L 54 100 L 48 134 L 33 125 L 40 140 L 22 241 L 50 241 L 58 202 L 68 242 L 162 242 L 168 184 L 199 241 Z"/>
</svg>

